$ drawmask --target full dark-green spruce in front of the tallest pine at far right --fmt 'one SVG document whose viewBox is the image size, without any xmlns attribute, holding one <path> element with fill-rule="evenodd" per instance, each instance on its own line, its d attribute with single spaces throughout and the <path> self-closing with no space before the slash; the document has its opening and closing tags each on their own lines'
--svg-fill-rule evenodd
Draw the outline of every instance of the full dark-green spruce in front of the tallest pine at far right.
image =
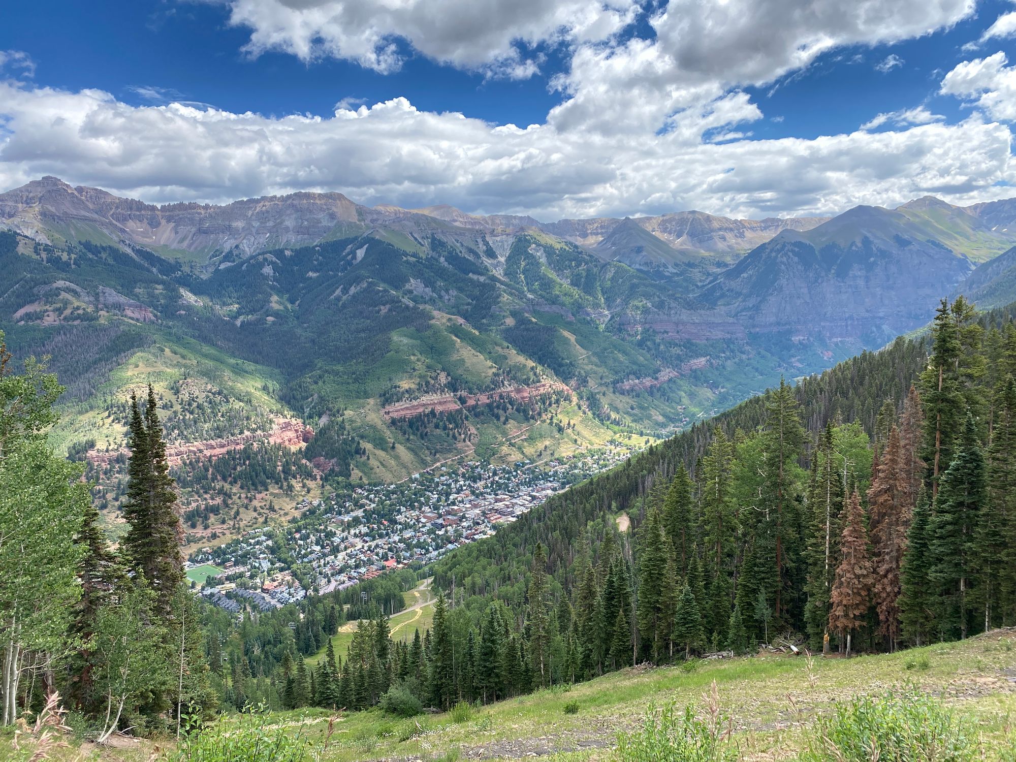
<svg viewBox="0 0 1016 762">
<path fill-rule="evenodd" d="M 938 586 L 939 626 L 951 637 L 966 638 L 972 615 L 970 589 L 980 553 L 977 523 L 987 501 L 985 456 L 972 415 L 967 415 L 955 452 L 939 482 L 929 522 L 929 577 Z"/>
</svg>

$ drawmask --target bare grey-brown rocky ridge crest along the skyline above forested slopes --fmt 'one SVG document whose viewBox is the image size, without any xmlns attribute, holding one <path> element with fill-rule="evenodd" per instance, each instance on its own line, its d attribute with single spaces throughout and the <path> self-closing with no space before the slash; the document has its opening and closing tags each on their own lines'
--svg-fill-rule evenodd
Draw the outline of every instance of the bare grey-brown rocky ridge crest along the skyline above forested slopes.
<svg viewBox="0 0 1016 762">
<path fill-rule="evenodd" d="M 304 246 L 354 228 L 373 227 L 452 237 L 536 229 L 593 247 L 619 226 L 626 225 L 637 226 L 647 237 L 659 241 L 662 248 L 678 252 L 741 254 L 781 230 L 808 230 L 821 221 L 812 217 L 729 219 L 687 211 L 634 220 L 596 217 L 541 223 L 516 214 L 468 214 L 447 205 L 423 209 L 369 207 L 351 201 L 341 193 L 309 192 L 245 199 L 223 206 L 198 203 L 156 206 L 120 198 L 99 188 L 72 187 L 55 177 L 44 177 L 0 193 L 0 225 L 33 238 L 49 242 L 55 235 L 71 235 L 75 226 L 85 225 L 115 241 L 202 254 L 234 248 L 252 254 L 283 246 Z M 650 241 L 649 247 L 652 246 Z M 655 262 L 657 257 L 650 259 Z"/>
</svg>

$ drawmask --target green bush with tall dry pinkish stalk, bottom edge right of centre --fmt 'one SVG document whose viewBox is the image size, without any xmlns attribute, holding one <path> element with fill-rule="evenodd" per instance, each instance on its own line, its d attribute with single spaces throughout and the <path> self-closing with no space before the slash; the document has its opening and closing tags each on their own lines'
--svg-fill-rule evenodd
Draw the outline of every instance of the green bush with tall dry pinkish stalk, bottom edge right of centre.
<svg viewBox="0 0 1016 762">
<path fill-rule="evenodd" d="M 662 709 L 650 705 L 642 729 L 618 736 L 617 756 L 625 762 L 736 762 L 738 750 L 724 727 L 716 684 L 712 685 L 705 718 L 695 715 L 691 704 Z"/>
</svg>

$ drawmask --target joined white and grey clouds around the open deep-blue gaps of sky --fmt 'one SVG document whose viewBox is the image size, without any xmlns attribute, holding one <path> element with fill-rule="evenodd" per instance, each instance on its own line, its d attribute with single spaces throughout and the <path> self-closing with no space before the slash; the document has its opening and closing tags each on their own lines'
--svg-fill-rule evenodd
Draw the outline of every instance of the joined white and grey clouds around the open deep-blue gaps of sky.
<svg viewBox="0 0 1016 762">
<path fill-rule="evenodd" d="M 337 190 L 370 204 L 549 219 L 689 208 L 830 213 L 926 193 L 972 202 L 1016 182 L 1009 127 L 980 112 L 948 125 L 918 107 L 849 134 L 751 139 L 765 115 L 749 85 L 836 48 L 947 28 L 972 13 L 973 0 L 225 2 L 231 22 L 249 29 L 253 55 L 332 56 L 378 71 L 420 54 L 525 77 L 541 46 L 561 45 L 568 63 L 551 80 L 561 100 L 542 123 L 517 127 L 419 111 L 404 98 L 269 117 L 173 103 L 150 85 L 134 90 L 134 106 L 98 89 L 0 79 L 0 187 L 52 174 L 156 202 Z M 632 37 L 640 13 L 654 35 Z M 957 67 L 943 91 L 983 102 L 1001 91 L 1006 63 L 981 62 L 980 78 Z M 981 110 L 1002 109 L 999 100 Z"/>
</svg>

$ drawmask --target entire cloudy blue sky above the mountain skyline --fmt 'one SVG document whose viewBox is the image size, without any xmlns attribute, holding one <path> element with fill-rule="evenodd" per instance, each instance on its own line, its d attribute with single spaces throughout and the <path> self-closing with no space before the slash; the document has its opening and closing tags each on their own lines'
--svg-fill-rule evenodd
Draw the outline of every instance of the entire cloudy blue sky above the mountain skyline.
<svg viewBox="0 0 1016 762">
<path fill-rule="evenodd" d="M 4 12 L 4 188 L 55 174 L 153 202 L 339 190 L 549 218 L 829 213 L 924 193 L 969 203 L 1016 182 L 1009 2 L 41 0 Z"/>
</svg>

